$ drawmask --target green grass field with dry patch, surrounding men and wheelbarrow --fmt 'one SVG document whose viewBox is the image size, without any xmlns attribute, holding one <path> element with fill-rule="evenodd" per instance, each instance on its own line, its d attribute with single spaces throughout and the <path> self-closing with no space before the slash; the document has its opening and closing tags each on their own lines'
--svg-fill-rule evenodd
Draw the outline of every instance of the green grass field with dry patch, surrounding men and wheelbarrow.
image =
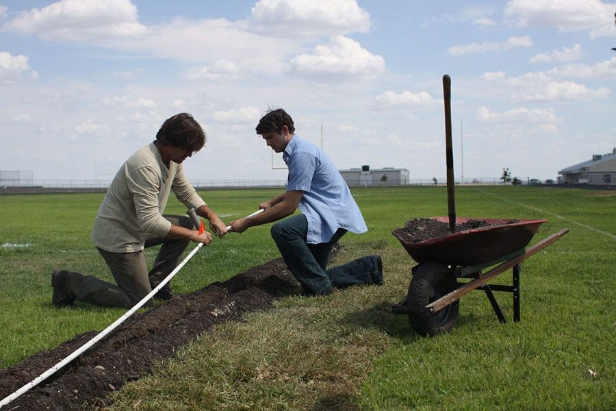
<svg viewBox="0 0 616 411">
<path fill-rule="evenodd" d="M 256 210 L 279 190 L 205 191 L 223 220 Z M 446 189 L 352 190 L 369 231 L 347 234 L 334 264 L 383 256 L 385 286 L 289 297 L 245 321 L 216 326 L 177 359 L 124 386 L 112 407 L 159 409 L 614 409 L 616 408 L 616 192 L 539 187 L 459 187 L 458 216 L 547 219 L 531 244 L 569 234 L 522 269 L 522 321 L 496 295 L 500 324 L 482 292 L 461 299 L 450 334 L 424 338 L 390 312 L 415 264 L 392 229 L 446 215 Z M 90 242 L 103 195 L 0 197 L 0 366 L 103 329 L 124 310 L 51 305 L 55 268 L 111 279 Z M 182 214 L 170 202 L 166 212 Z M 192 247 L 189 247 L 189 250 Z M 188 251 L 187 251 L 188 252 Z M 148 251 L 150 261 L 155 251 Z M 277 258 L 269 225 L 215 239 L 173 280 L 192 292 Z M 510 284 L 511 271 L 497 283 Z"/>
</svg>

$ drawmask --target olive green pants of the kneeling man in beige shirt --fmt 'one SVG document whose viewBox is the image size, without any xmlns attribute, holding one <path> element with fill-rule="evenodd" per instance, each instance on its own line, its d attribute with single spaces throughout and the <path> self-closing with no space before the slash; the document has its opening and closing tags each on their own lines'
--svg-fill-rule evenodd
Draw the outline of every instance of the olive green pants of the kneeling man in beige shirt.
<svg viewBox="0 0 616 411">
<path fill-rule="evenodd" d="M 193 228 L 192 221 L 188 216 L 164 215 L 164 218 L 173 225 Z M 190 240 L 168 238 L 147 240 L 144 245 L 145 248 L 161 245 L 154 265 L 149 272 L 143 251 L 111 253 L 97 247 L 99 253 L 107 262 L 117 285 L 105 282 L 92 275 L 71 272 L 68 273 L 68 290 L 75 295 L 77 301 L 84 301 L 97 306 L 131 308 L 175 269 L 189 242 Z M 146 306 L 149 307 L 153 305 L 151 299 L 146 303 Z"/>
</svg>

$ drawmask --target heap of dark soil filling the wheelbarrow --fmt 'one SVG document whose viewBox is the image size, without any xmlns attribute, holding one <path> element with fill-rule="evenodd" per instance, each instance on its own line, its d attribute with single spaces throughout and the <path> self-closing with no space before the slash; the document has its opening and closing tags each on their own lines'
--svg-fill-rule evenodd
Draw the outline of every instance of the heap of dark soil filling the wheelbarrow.
<svg viewBox="0 0 616 411">
<path fill-rule="evenodd" d="M 519 220 L 508 220 L 505 223 L 498 223 L 498 225 L 513 224 L 518 221 Z M 470 219 L 465 223 L 456 224 L 456 232 L 464 232 L 470 229 L 489 227 L 491 225 L 496 224 L 485 220 Z M 443 223 L 435 219 L 412 219 L 405 223 L 404 228 L 396 228 L 394 231 L 406 242 L 420 242 L 451 234 L 448 223 Z"/>
</svg>

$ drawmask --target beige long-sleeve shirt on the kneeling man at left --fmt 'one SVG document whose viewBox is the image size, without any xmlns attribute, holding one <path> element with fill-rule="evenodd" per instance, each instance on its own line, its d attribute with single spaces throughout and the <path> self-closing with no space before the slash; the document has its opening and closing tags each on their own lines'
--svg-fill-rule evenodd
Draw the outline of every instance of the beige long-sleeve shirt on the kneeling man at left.
<svg viewBox="0 0 616 411">
<path fill-rule="evenodd" d="M 141 251 L 145 240 L 164 237 L 171 223 L 163 218 L 170 191 L 187 208 L 205 205 L 181 164 L 165 166 L 154 143 L 131 155 L 114 177 L 94 219 L 92 241 L 112 253 Z"/>
</svg>

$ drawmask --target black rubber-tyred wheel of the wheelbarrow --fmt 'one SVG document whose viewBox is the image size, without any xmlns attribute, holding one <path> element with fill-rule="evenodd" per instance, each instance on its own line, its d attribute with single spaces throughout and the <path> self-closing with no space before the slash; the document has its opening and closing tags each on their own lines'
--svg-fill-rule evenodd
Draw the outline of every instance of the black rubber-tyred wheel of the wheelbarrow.
<svg viewBox="0 0 616 411">
<path fill-rule="evenodd" d="M 457 281 L 450 270 L 440 262 L 426 262 L 413 274 L 407 306 L 422 308 L 457 288 Z M 413 331 L 422 335 L 437 336 L 449 332 L 458 318 L 460 301 L 431 314 L 409 313 Z"/>
</svg>

